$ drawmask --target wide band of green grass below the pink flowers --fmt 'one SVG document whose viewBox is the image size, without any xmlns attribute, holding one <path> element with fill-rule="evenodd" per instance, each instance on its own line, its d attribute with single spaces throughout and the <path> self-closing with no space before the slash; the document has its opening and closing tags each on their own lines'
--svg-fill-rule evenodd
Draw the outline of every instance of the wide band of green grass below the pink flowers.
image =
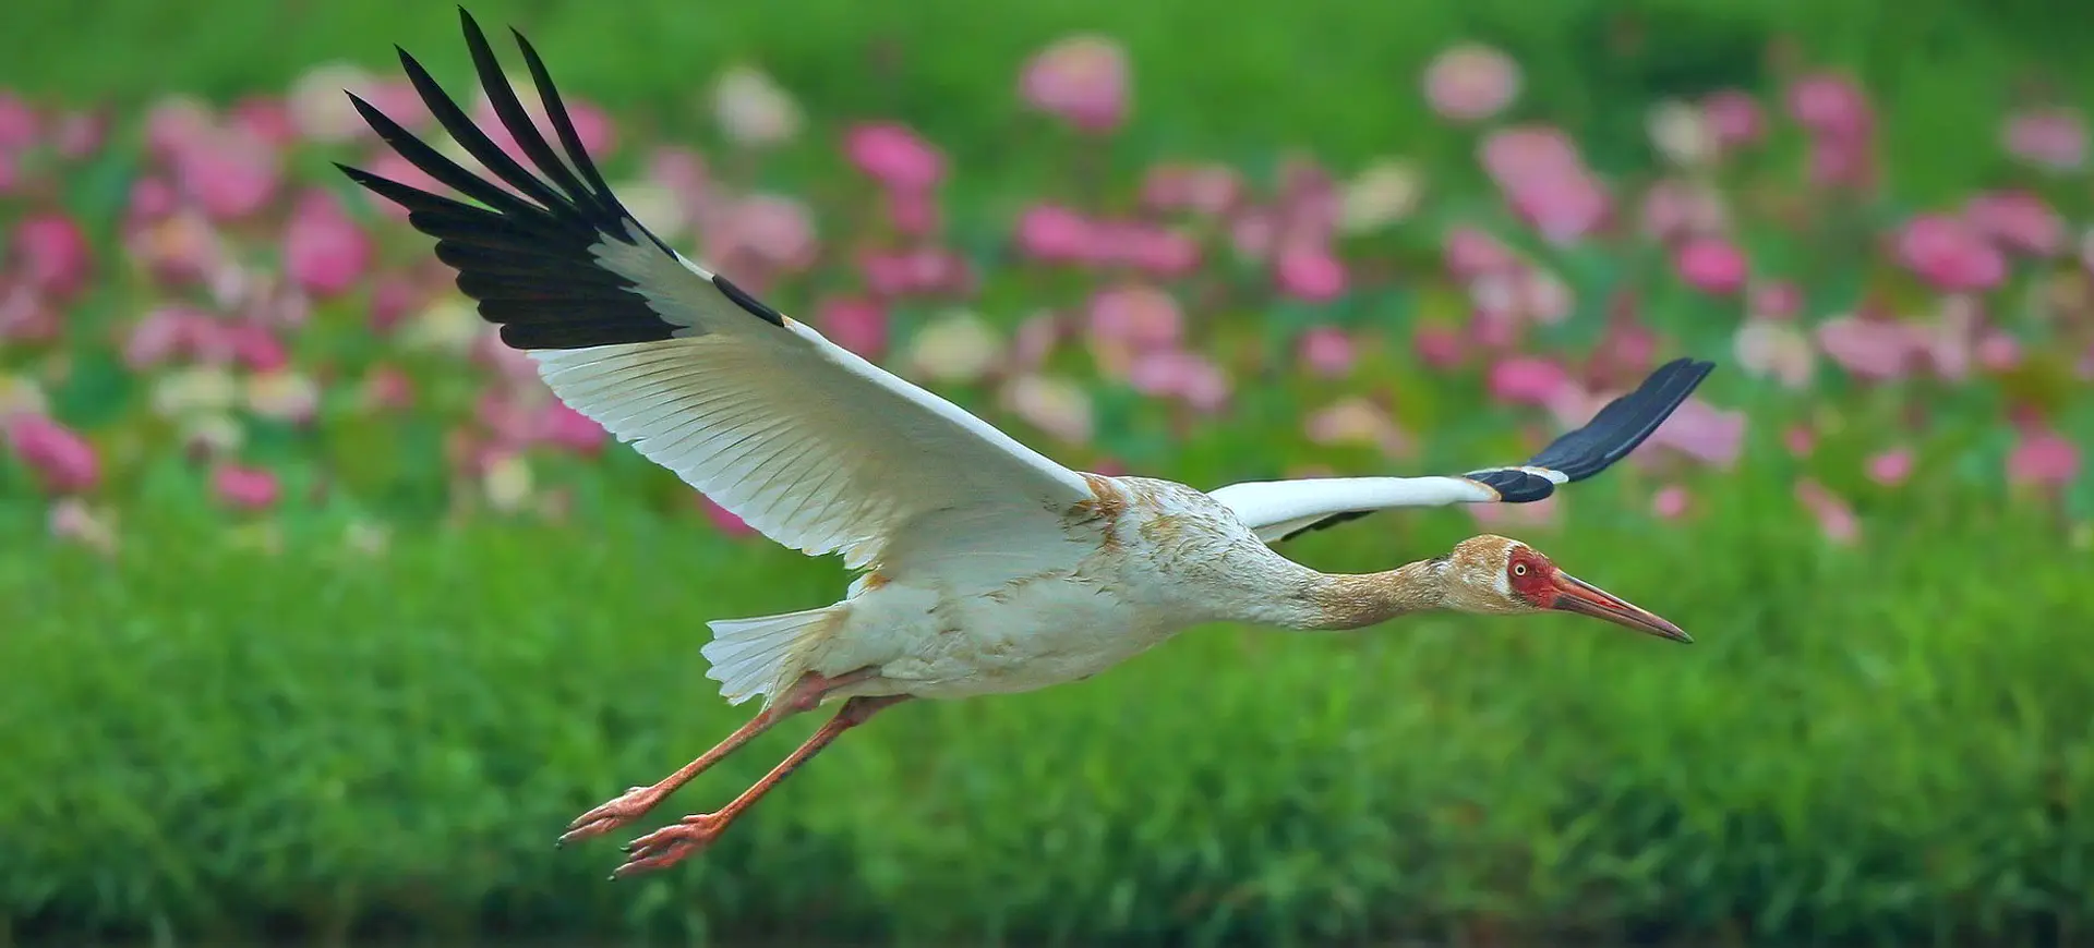
<svg viewBox="0 0 2094 948">
<path fill-rule="evenodd" d="M 704 622 L 825 603 L 831 563 L 632 509 L 383 559 L 151 511 L 115 563 L 17 542 L 0 912 L 29 938 L 2084 940 L 2086 552 L 1950 492 L 1830 548 L 1765 469 L 1656 529 L 1619 506 L 1633 481 L 1518 534 L 1694 647 L 1568 617 L 1202 628 L 882 716 L 706 858 L 616 885 L 614 843 L 557 829 L 737 724 Z M 1378 515 L 1296 555 L 1372 569 L 1466 532 Z"/>
</svg>

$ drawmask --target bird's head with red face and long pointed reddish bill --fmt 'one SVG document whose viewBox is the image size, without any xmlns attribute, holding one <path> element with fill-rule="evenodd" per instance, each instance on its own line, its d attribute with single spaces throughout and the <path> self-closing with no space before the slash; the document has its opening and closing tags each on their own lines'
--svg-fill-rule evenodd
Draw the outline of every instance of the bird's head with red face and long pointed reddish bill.
<svg viewBox="0 0 2094 948">
<path fill-rule="evenodd" d="M 1449 609 L 1489 615 L 1566 611 L 1606 619 L 1675 642 L 1692 642 L 1679 626 L 1665 622 L 1621 596 L 1579 580 L 1518 540 L 1472 536 L 1447 555 L 1445 599 Z"/>
</svg>

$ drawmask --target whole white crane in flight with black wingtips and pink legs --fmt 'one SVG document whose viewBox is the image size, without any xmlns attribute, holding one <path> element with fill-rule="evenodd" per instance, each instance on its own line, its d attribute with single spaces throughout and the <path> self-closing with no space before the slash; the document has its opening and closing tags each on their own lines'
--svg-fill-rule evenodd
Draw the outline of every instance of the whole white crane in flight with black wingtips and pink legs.
<svg viewBox="0 0 2094 948">
<path fill-rule="evenodd" d="M 683 257 L 634 220 L 582 151 L 544 63 L 515 33 L 563 163 L 486 36 L 459 10 L 494 113 L 526 170 L 400 50 L 438 123 L 511 190 L 423 144 L 362 98 L 373 130 L 465 203 L 341 165 L 410 211 L 459 289 L 526 349 L 572 408 L 806 555 L 861 573 L 817 609 L 712 622 L 701 653 L 720 693 L 762 709 L 683 770 L 578 816 L 561 841 L 641 818 L 779 720 L 836 718 L 712 814 L 626 845 L 614 877 L 701 850 L 838 735 L 911 697 L 1072 682 L 1179 630 L 1246 622 L 1349 630 L 1453 609 L 1573 611 L 1686 642 L 1644 609 L 1570 578 L 1535 548 L 1474 536 L 1382 573 L 1334 575 L 1269 544 L 1390 506 L 1529 502 L 1591 477 L 1648 437 L 1713 368 L 1677 360 L 1520 467 L 1460 477 L 1332 477 L 1200 492 L 1070 471 L 959 406 L 829 343 Z"/>
</svg>

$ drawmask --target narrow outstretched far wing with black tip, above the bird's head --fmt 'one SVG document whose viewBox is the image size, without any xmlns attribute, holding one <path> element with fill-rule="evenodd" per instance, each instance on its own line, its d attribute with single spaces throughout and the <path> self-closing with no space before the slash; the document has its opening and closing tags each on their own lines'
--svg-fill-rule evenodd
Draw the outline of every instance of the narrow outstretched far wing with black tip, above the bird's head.
<svg viewBox="0 0 2094 948">
<path fill-rule="evenodd" d="M 1258 540 L 1279 542 L 1388 506 L 1524 504 L 1583 481 L 1644 444 L 1694 393 L 1715 362 L 1673 360 L 1635 391 L 1600 408 L 1585 427 L 1550 442 L 1524 465 L 1487 467 L 1460 477 L 1315 477 L 1244 481 L 1210 492 L 1235 511 Z"/>
</svg>

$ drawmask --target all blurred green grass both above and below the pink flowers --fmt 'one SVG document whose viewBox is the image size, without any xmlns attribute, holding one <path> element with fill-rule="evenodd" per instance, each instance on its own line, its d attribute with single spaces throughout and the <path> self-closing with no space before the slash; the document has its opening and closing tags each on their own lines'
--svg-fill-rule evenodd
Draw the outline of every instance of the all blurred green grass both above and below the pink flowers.
<svg viewBox="0 0 2094 948">
<path fill-rule="evenodd" d="M 1298 144 L 1474 176 L 1418 96 L 1424 61 L 1464 38 L 1512 52 L 1520 111 L 1617 174 L 1650 163 L 1656 94 L 1774 90 L 1795 63 L 1849 67 L 1880 96 L 1914 203 L 1996 172 L 2019 94 L 2094 100 L 2094 8 L 2040 0 L 473 10 L 524 27 L 563 88 L 624 123 L 704 142 L 704 84 L 748 59 L 817 134 L 911 121 L 978 201 L 1037 176 L 1016 63 L 1078 27 L 1135 63 L 1139 117 L 1112 144 L 1127 167 Z M 230 100 L 331 59 L 389 69 L 396 42 L 446 82 L 467 73 L 448 4 L 15 2 L 0 86 Z M 1753 408 L 1734 377 L 1711 391 Z M 1899 410 L 1885 396 L 1876 416 Z M 1510 412 L 1506 431 L 1512 446 Z M 1238 427 L 1141 473 L 1217 486 L 1296 439 Z M 1455 448 L 1424 460 L 1499 460 Z M 1692 649 L 1552 619 L 1200 630 L 1091 682 L 884 716 L 708 856 L 605 885 L 614 850 L 553 852 L 555 831 L 748 712 L 704 678 L 704 622 L 842 586 L 833 563 L 658 521 L 620 492 L 628 454 L 580 527 L 431 523 L 385 557 L 270 557 L 201 496 L 163 492 L 105 561 L 0 502 L 0 940 L 2086 944 L 2094 925 L 2084 544 L 1943 477 L 1859 496 L 1868 546 L 1828 548 L 1790 513 L 1778 448 L 1705 475 L 1690 525 L 1652 527 L 1650 483 L 1623 469 L 1535 538 Z M 346 519 L 293 523 L 289 548 L 339 548 L 320 538 Z M 1460 511 L 1380 515 L 1290 552 L 1378 569 L 1466 532 Z M 662 816 L 725 799 L 808 728 Z"/>
</svg>

